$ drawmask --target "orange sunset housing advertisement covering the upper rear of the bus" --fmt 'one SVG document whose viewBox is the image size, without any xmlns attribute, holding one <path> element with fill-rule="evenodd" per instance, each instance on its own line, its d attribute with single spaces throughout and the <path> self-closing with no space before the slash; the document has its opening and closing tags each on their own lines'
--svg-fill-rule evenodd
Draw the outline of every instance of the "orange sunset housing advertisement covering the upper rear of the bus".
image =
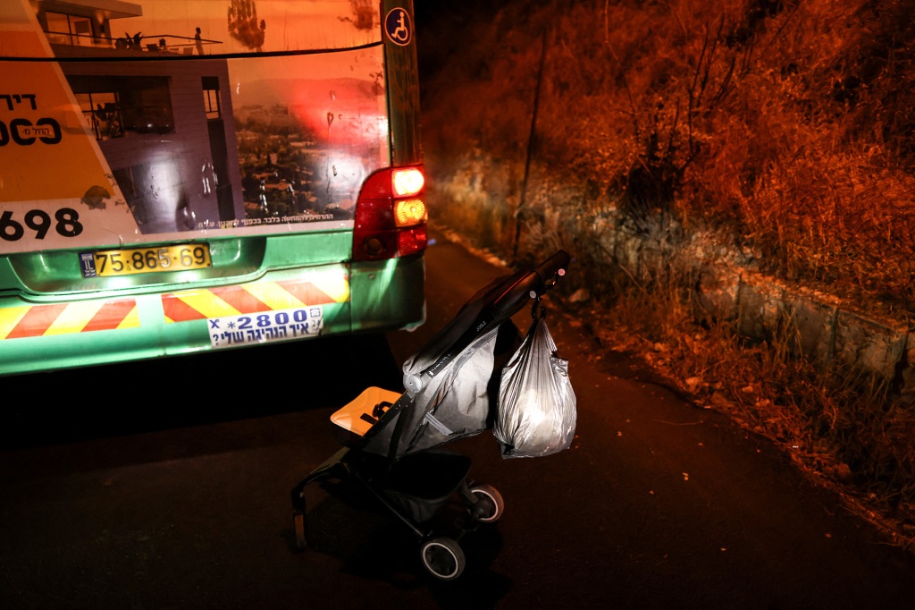
<svg viewBox="0 0 915 610">
<path fill-rule="evenodd" d="M 371 0 L 0 6 L 0 254 L 349 228 L 390 164 Z"/>
</svg>

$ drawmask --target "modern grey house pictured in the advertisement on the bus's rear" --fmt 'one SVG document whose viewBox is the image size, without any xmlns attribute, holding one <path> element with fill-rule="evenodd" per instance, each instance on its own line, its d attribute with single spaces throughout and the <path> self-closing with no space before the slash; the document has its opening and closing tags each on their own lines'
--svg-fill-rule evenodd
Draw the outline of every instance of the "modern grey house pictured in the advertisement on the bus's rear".
<svg viewBox="0 0 915 610">
<path fill-rule="evenodd" d="M 227 60 L 194 56 L 193 33 L 119 36 L 118 21 L 142 16 L 140 4 L 31 4 L 82 126 L 94 133 L 140 231 L 168 234 L 243 218 Z"/>
</svg>

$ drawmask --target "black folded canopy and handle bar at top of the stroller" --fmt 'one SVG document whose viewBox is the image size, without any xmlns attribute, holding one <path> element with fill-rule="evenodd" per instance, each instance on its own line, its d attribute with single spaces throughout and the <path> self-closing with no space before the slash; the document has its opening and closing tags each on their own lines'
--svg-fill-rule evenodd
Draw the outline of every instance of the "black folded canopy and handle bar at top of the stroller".
<svg viewBox="0 0 915 610">
<path fill-rule="evenodd" d="M 416 392 L 425 387 L 428 379 L 438 375 L 477 337 L 488 332 L 493 326 L 511 318 L 524 307 L 528 300 L 540 299 L 547 290 L 553 289 L 558 279 L 565 276 L 565 269 L 570 260 L 564 250 L 558 250 L 533 270 L 521 271 L 506 278 L 499 287 L 501 292 L 498 296 L 489 306 L 480 311 L 468 330 L 461 334 L 458 341 L 440 355 L 433 365 L 426 367 L 419 374 L 404 375 L 404 387 L 407 393 L 414 396 Z"/>
</svg>

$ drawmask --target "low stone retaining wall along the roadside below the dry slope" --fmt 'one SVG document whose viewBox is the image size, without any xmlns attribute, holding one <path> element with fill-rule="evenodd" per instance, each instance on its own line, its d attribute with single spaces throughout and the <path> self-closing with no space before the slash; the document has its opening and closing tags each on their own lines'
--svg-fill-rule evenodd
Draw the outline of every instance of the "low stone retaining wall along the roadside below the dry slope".
<svg viewBox="0 0 915 610">
<path fill-rule="evenodd" d="M 472 163 L 458 161 L 449 164 L 449 172 L 439 171 L 436 196 L 467 202 L 468 183 L 476 189 L 485 184 L 488 205 L 511 202 L 501 211 L 503 217 L 511 218 L 519 212 L 515 202 L 524 202 L 519 252 L 542 251 L 544 235 L 553 235 L 573 256 L 597 265 L 615 264 L 637 281 L 675 268 L 697 278 L 694 297 L 708 315 L 737 322 L 740 332 L 749 337 L 787 336 L 791 348 L 814 363 L 845 365 L 862 375 L 877 376 L 894 391 L 915 399 L 915 332 L 905 322 L 871 315 L 866 304 L 852 306 L 833 295 L 767 277 L 753 268 L 753 256 L 722 245 L 726 240 L 715 235 L 684 234 L 670 221 L 666 226 L 646 226 L 642 220 L 634 227 L 606 195 L 559 182 L 549 169 L 534 168 L 526 197 L 520 197 L 518 180 L 509 185 L 494 179 L 512 172 L 518 175 L 517 168 L 501 165 L 506 164 L 493 159 L 480 162 L 476 151 Z M 486 175 L 477 175 L 480 172 Z M 508 209 L 509 205 L 515 209 Z M 432 208 L 435 213 L 435 201 Z M 487 245 L 475 234 L 482 232 L 479 223 L 453 228 L 470 241 Z M 539 242 L 528 243 L 532 240 Z M 588 250 L 587 256 L 582 256 L 582 249 Z"/>
</svg>

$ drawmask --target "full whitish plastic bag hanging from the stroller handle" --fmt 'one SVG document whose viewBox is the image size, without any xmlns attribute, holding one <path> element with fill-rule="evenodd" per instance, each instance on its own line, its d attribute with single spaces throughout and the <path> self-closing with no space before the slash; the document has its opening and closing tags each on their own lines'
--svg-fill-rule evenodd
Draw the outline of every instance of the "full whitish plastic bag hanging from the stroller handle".
<svg viewBox="0 0 915 610">
<path fill-rule="evenodd" d="M 537 318 L 502 369 L 493 427 L 502 457 L 542 457 L 568 449 L 576 418 L 568 361 L 556 355 L 546 322 Z"/>
</svg>

